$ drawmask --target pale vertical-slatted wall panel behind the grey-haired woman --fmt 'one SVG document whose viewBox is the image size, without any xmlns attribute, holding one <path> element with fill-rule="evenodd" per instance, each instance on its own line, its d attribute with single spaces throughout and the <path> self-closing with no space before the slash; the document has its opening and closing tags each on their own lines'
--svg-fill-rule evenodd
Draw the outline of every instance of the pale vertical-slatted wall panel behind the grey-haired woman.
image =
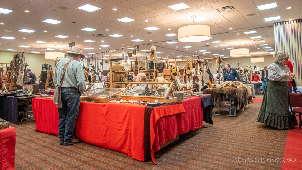
<svg viewBox="0 0 302 170">
<path fill-rule="evenodd" d="M 302 20 L 274 24 L 275 51 L 287 53 L 293 67 L 297 86 L 302 86 Z"/>
</svg>

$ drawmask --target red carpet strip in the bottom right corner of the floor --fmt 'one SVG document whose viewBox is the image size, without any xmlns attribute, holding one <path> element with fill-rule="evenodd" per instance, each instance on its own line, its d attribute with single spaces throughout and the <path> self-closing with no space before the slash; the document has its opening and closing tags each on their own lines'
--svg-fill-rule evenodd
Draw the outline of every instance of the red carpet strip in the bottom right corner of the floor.
<svg viewBox="0 0 302 170">
<path fill-rule="evenodd" d="M 298 116 L 297 116 L 298 118 Z M 297 119 L 299 122 L 299 120 Z M 296 126 L 287 134 L 282 170 L 301 169 L 302 167 L 302 129 Z"/>
</svg>

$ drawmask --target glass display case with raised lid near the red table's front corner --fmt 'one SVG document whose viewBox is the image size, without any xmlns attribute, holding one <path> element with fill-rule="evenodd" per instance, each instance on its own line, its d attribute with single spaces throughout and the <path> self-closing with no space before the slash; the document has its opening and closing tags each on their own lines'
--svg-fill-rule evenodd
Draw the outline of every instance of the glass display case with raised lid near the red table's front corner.
<svg viewBox="0 0 302 170">
<path fill-rule="evenodd" d="M 172 103 L 177 101 L 172 87 L 173 82 L 130 82 L 121 96 L 122 100 Z"/>
</svg>

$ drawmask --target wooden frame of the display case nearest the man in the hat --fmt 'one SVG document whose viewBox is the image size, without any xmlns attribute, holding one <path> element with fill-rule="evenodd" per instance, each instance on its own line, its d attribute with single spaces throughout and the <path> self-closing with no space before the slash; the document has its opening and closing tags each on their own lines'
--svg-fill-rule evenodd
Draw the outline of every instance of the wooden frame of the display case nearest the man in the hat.
<svg viewBox="0 0 302 170">
<path fill-rule="evenodd" d="M 110 97 L 116 96 L 118 93 L 121 93 L 121 92 L 123 92 L 123 90 L 125 90 L 125 88 L 96 88 L 96 89 L 120 89 L 120 91 L 117 92 L 117 93 L 113 93 L 113 94 L 111 94 L 107 97 L 80 96 L 80 101 L 96 102 L 96 103 L 107 103 L 111 100 L 121 100 L 122 99 L 121 97 L 115 97 L 115 98 L 110 98 Z M 96 90 L 96 89 L 93 89 L 93 90 Z M 91 92 L 93 90 L 89 90 L 85 93 Z M 110 99 L 108 99 L 108 98 L 110 98 Z"/>
</svg>

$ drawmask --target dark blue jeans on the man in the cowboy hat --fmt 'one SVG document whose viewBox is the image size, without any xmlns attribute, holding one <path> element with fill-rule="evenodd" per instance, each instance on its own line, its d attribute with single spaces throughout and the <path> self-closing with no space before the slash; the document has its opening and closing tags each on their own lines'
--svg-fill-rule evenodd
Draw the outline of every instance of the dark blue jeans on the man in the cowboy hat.
<svg viewBox="0 0 302 170">
<path fill-rule="evenodd" d="M 79 116 L 80 92 L 76 88 L 61 87 L 62 108 L 59 112 L 59 139 L 71 142 L 75 120 Z"/>
</svg>

